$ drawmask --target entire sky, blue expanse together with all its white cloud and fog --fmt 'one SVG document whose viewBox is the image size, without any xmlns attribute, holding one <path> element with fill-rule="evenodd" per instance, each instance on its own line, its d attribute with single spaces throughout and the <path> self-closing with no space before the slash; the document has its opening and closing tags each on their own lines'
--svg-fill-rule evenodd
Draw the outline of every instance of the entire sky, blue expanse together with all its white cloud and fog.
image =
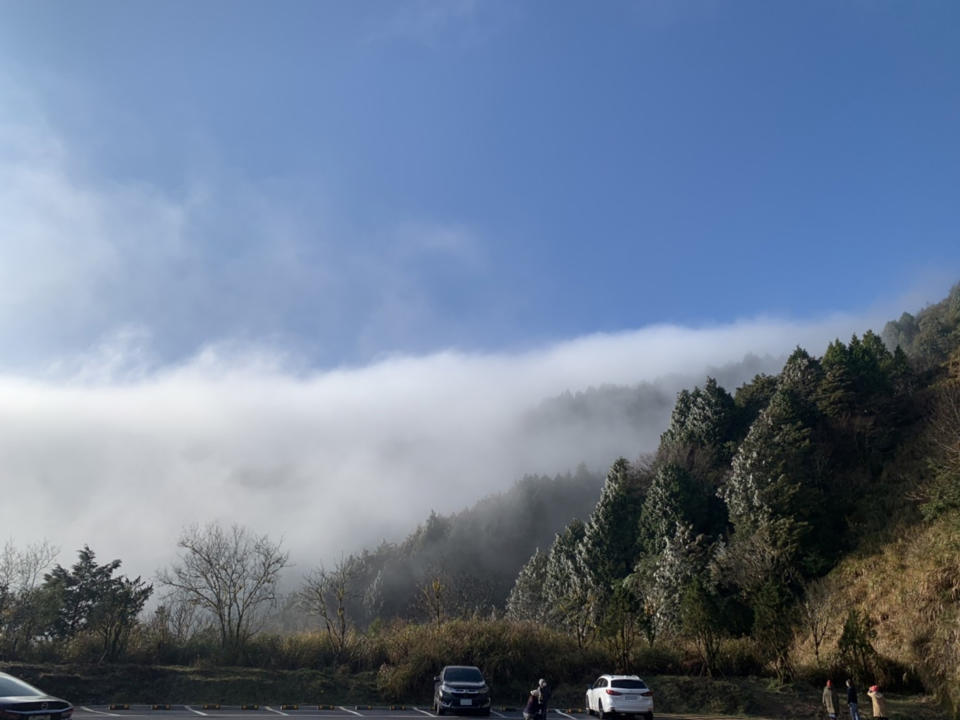
<svg viewBox="0 0 960 720">
<path fill-rule="evenodd" d="M 530 413 L 960 280 L 958 37 L 934 0 L 0 0 L 0 527 L 149 575 L 238 521 L 303 567 L 652 450 Z"/>
</svg>

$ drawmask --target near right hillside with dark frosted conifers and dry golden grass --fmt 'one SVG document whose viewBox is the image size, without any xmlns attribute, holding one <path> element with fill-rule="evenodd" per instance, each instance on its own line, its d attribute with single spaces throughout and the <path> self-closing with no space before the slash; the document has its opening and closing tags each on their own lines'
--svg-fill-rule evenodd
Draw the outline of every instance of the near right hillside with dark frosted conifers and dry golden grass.
<svg viewBox="0 0 960 720">
<path fill-rule="evenodd" d="M 510 616 L 604 639 L 623 667 L 672 639 L 707 673 L 733 653 L 956 704 L 958 348 L 960 286 L 883 339 L 681 392 L 655 458 L 613 464 L 589 519 L 522 569 Z"/>
</svg>

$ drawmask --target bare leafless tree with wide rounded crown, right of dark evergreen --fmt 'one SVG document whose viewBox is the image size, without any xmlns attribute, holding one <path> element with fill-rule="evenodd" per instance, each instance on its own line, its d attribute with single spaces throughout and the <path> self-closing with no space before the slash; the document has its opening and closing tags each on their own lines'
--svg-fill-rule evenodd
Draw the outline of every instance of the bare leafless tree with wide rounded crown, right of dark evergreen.
<svg viewBox="0 0 960 720">
<path fill-rule="evenodd" d="M 212 615 L 228 661 L 239 658 L 259 630 L 260 613 L 276 604 L 280 572 L 289 553 L 266 535 L 240 525 L 192 525 L 180 537 L 179 562 L 161 570 L 158 580 L 179 590 L 188 602 Z"/>
</svg>

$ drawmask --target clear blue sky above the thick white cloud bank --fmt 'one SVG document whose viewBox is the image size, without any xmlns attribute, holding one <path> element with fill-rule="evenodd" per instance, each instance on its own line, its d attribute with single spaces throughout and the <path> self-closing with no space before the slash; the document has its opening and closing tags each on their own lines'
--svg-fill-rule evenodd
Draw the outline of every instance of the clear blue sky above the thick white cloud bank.
<svg viewBox="0 0 960 720">
<path fill-rule="evenodd" d="M 936 301 L 960 275 L 954 3 L 2 11 L 6 123 L 56 138 L 114 232 L 117 192 L 182 214 L 150 258 L 125 211 L 118 277 L 45 287 L 18 365 L 121 327 L 163 361 L 497 351 Z"/>
</svg>

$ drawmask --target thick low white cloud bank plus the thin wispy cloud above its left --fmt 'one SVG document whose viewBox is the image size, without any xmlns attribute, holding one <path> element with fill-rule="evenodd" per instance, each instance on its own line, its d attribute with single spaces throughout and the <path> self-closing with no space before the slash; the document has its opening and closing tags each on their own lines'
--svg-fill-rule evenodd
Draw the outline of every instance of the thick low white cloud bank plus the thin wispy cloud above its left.
<svg viewBox="0 0 960 720">
<path fill-rule="evenodd" d="M 0 527 L 21 546 L 48 538 L 64 563 L 88 543 L 152 575 L 182 527 L 209 519 L 284 537 L 301 567 L 330 560 L 524 472 L 601 468 L 656 443 L 655 423 L 532 430 L 544 398 L 820 352 L 886 316 L 656 326 L 307 373 L 283 354 L 287 333 L 377 349 L 439 321 L 419 263 L 482 272 L 474 232 L 411 223 L 390 252 L 358 250 L 269 188 L 95 182 L 42 118 L 0 117 L 0 157 Z"/>
</svg>

